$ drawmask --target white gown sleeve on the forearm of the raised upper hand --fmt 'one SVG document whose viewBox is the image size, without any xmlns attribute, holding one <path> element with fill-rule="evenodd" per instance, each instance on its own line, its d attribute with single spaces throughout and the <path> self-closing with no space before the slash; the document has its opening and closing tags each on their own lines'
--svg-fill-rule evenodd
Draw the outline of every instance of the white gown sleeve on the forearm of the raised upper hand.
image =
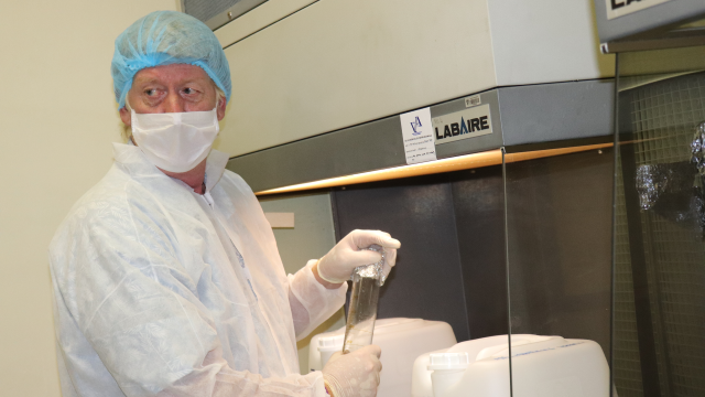
<svg viewBox="0 0 705 397">
<path fill-rule="evenodd" d="M 327 289 L 316 281 L 311 269 L 316 262 L 316 259 L 308 260 L 295 275 L 289 275 L 289 304 L 297 341 L 338 311 L 348 290 L 347 282 L 336 289 Z"/>
</svg>

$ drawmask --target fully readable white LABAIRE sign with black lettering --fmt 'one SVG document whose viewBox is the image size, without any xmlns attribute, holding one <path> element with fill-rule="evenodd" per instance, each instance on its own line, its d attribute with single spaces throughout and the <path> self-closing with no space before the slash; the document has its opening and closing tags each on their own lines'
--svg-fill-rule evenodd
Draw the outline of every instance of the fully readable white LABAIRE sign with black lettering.
<svg viewBox="0 0 705 397">
<path fill-rule="evenodd" d="M 489 105 L 434 117 L 432 126 L 436 144 L 492 133 Z"/>
</svg>

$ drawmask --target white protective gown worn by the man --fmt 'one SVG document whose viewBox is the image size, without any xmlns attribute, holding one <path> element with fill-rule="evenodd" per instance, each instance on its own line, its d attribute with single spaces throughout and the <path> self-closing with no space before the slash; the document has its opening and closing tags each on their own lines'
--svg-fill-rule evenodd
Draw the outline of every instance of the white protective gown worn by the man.
<svg viewBox="0 0 705 397">
<path fill-rule="evenodd" d="M 286 276 L 250 187 L 212 151 L 205 195 L 131 144 L 50 247 L 59 375 L 72 396 L 322 396 L 296 339 L 345 301 L 315 261 Z"/>
</svg>

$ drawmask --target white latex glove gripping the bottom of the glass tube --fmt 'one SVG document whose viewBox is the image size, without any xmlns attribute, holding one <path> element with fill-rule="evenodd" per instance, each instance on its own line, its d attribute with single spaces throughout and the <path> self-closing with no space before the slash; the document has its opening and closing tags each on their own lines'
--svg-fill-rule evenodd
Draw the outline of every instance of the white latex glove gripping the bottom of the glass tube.
<svg viewBox="0 0 705 397">
<path fill-rule="evenodd" d="M 377 396 L 381 353 L 379 346 L 369 345 L 348 354 L 333 354 L 323 367 L 323 380 L 332 397 Z"/>
</svg>

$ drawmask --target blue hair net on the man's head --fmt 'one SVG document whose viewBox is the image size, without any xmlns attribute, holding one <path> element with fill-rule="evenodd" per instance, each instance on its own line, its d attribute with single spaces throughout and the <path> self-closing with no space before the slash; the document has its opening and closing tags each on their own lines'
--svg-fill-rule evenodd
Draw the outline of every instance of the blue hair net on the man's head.
<svg viewBox="0 0 705 397">
<path fill-rule="evenodd" d="M 210 29 L 182 12 L 155 11 L 139 19 L 115 41 L 110 72 L 120 108 L 139 71 L 176 63 L 200 66 L 230 100 L 230 66 Z"/>
</svg>

